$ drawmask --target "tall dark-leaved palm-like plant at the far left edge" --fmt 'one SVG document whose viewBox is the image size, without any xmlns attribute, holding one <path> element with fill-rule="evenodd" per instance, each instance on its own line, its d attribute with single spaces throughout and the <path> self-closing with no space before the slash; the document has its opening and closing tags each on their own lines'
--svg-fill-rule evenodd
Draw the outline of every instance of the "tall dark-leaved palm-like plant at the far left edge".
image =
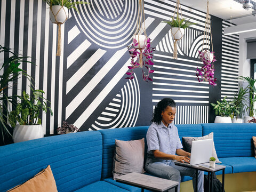
<svg viewBox="0 0 256 192">
<path fill-rule="evenodd" d="M 7 123 L 7 117 L 9 116 L 8 105 L 12 103 L 15 105 L 16 99 L 15 96 L 8 95 L 7 89 L 10 89 L 14 86 L 17 79 L 22 75 L 26 77 L 30 77 L 26 74 L 26 71 L 19 68 L 20 63 L 31 63 L 30 61 L 26 61 L 28 57 L 22 57 L 18 54 L 14 54 L 11 49 L 3 47 L 0 45 L 0 53 L 7 53 L 10 55 L 8 59 L 5 59 L 2 67 L 0 68 L 3 71 L 3 74 L 0 75 L 0 134 L 1 138 L 3 138 L 3 144 L 5 143 L 5 138 L 12 137 L 10 133 L 11 127 Z M 10 84 L 12 82 L 12 84 Z"/>
</svg>

